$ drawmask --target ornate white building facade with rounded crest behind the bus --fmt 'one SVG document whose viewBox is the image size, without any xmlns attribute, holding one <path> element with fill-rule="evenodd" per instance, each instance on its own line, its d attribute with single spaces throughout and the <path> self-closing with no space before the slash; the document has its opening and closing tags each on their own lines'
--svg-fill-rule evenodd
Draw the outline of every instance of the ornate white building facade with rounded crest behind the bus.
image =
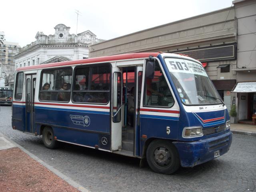
<svg viewBox="0 0 256 192">
<path fill-rule="evenodd" d="M 89 46 L 102 42 L 90 30 L 70 34 L 70 27 L 58 24 L 53 35 L 37 32 L 36 41 L 24 46 L 14 57 L 16 68 L 88 58 Z"/>
</svg>

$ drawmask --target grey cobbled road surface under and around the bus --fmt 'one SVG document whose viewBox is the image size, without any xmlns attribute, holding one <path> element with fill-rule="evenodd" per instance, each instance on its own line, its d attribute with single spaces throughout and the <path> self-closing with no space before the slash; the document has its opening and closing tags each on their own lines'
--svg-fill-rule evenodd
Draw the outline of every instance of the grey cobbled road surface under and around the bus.
<svg viewBox="0 0 256 192">
<path fill-rule="evenodd" d="M 139 159 L 62 144 L 44 147 L 42 138 L 11 128 L 11 107 L 1 106 L 0 132 L 92 192 L 256 191 L 256 137 L 233 134 L 227 154 L 173 175 L 139 168 Z"/>
</svg>

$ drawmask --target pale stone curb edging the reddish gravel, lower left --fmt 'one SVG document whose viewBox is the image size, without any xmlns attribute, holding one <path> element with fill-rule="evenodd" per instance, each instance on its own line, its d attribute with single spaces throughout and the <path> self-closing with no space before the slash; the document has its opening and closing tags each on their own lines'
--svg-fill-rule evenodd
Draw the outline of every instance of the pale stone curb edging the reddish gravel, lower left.
<svg viewBox="0 0 256 192">
<path fill-rule="evenodd" d="M 58 177 L 62 178 L 64 181 L 66 181 L 68 184 L 70 184 L 71 186 L 73 186 L 74 188 L 80 190 L 81 192 L 90 192 L 90 190 L 84 188 L 83 186 L 81 186 L 80 184 L 78 184 L 77 182 L 75 182 L 74 180 L 72 180 L 71 178 L 69 178 L 68 176 L 62 174 L 60 171 L 56 170 L 55 168 L 53 168 L 52 166 L 48 165 L 46 162 L 44 162 L 43 160 L 41 160 L 40 158 L 38 158 L 37 156 L 35 156 L 34 154 L 30 153 L 28 150 L 26 150 L 25 148 L 23 148 L 22 146 L 20 146 L 18 143 L 14 142 L 13 140 L 10 140 L 10 138 L 6 137 L 4 134 L 2 134 L 0 132 L 0 136 L 2 136 L 3 138 L 5 138 L 6 140 L 8 140 L 10 143 L 12 143 L 14 145 L 14 147 L 18 147 L 20 148 L 23 152 L 25 152 L 26 154 L 28 154 L 32 159 L 36 160 L 37 162 L 39 162 L 40 164 L 42 164 L 43 166 L 45 166 L 48 170 L 50 170 L 51 172 L 53 172 L 54 174 L 56 174 Z"/>
</svg>

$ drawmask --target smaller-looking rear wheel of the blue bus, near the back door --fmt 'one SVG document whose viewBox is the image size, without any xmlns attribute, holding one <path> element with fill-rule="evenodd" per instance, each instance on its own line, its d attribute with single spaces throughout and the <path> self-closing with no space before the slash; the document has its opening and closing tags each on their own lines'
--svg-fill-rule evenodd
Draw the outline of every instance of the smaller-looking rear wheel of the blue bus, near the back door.
<svg viewBox="0 0 256 192">
<path fill-rule="evenodd" d="M 43 142 L 44 146 L 46 146 L 49 149 L 55 149 L 58 147 L 58 141 L 54 140 L 54 133 L 51 127 L 44 128 Z"/>
</svg>

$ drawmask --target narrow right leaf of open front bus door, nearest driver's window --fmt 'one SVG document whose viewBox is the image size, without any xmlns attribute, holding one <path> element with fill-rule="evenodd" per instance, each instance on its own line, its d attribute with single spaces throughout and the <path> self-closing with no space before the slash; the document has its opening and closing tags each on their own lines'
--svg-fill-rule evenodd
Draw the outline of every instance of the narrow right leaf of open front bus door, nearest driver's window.
<svg viewBox="0 0 256 192">
<path fill-rule="evenodd" d="M 135 92 L 135 110 L 134 110 L 134 156 L 140 155 L 140 101 L 142 100 L 142 78 L 143 78 L 143 67 L 136 66 L 136 92 Z"/>
</svg>

